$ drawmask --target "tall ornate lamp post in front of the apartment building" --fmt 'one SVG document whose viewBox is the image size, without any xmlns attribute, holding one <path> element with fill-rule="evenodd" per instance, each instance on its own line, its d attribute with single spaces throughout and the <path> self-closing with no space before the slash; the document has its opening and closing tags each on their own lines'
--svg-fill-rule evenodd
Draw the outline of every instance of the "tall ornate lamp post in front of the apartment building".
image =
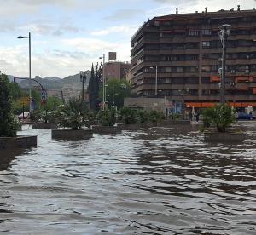
<svg viewBox="0 0 256 235">
<path fill-rule="evenodd" d="M 225 103 L 225 80 L 226 80 L 226 52 L 227 52 L 227 46 L 226 42 L 228 37 L 230 36 L 232 26 L 230 25 L 223 25 L 220 26 L 220 31 L 218 32 L 218 35 L 220 37 L 220 41 L 222 43 L 222 76 L 221 76 L 221 89 L 220 89 L 220 103 Z"/>
</svg>

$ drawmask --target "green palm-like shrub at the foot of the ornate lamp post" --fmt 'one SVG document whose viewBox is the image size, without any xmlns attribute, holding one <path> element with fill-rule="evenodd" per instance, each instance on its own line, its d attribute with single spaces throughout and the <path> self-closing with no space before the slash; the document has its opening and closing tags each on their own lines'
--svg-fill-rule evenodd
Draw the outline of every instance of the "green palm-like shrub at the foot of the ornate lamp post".
<svg viewBox="0 0 256 235">
<path fill-rule="evenodd" d="M 235 113 L 228 105 L 218 105 L 206 108 L 202 111 L 203 123 L 205 127 L 211 125 L 219 132 L 225 132 L 226 128 L 236 122 Z"/>
</svg>

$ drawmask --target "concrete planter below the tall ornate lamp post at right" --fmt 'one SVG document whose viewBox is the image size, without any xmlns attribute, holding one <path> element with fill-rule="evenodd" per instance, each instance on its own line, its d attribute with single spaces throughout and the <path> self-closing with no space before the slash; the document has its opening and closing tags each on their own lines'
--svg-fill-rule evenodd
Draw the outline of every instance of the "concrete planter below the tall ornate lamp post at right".
<svg viewBox="0 0 256 235">
<path fill-rule="evenodd" d="M 205 131 L 204 138 L 208 142 L 241 142 L 243 140 L 242 132 L 217 132 Z"/>
</svg>

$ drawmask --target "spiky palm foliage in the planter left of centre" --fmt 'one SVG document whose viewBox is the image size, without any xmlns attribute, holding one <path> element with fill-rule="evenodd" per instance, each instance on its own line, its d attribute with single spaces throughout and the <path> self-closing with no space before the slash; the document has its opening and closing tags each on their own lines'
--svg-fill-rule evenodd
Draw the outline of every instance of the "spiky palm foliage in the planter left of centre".
<svg viewBox="0 0 256 235">
<path fill-rule="evenodd" d="M 88 112 L 88 108 L 83 100 L 69 100 L 66 106 L 59 107 L 57 123 L 61 127 L 71 129 L 82 128 L 84 121 L 87 119 Z"/>
</svg>

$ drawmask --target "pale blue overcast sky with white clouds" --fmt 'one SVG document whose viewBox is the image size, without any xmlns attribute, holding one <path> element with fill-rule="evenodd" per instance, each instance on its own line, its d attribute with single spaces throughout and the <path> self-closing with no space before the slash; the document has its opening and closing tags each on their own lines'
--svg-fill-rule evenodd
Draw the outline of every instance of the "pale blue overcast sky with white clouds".
<svg viewBox="0 0 256 235">
<path fill-rule="evenodd" d="M 28 76 L 32 33 L 32 76 L 67 77 L 90 69 L 108 51 L 130 60 L 130 38 L 157 15 L 253 9 L 255 0 L 0 0 L 0 70 Z"/>
</svg>

